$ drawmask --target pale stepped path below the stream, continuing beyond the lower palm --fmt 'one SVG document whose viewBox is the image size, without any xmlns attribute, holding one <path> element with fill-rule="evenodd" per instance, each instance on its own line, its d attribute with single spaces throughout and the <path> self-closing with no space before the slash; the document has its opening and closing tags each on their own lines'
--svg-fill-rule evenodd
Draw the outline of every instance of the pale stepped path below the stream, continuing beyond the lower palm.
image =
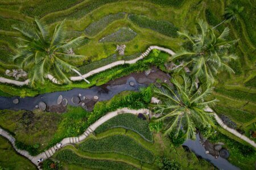
<svg viewBox="0 0 256 170">
<path fill-rule="evenodd" d="M 210 109 L 209 107 L 207 109 L 205 109 L 205 111 L 206 112 L 213 112 L 212 109 Z M 137 115 L 139 113 L 143 113 L 143 114 L 150 113 L 150 110 L 148 110 L 148 109 L 134 110 L 134 109 L 129 109 L 129 108 L 122 108 L 122 109 L 117 109 L 114 112 L 109 112 L 109 113 L 105 114 L 105 116 L 102 116 L 99 120 L 94 122 L 92 125 L 90 125 L 85 130 L 85 132 L 82 135 L 80 135 L 79 137 L 64 138 L 60 142 L 61 146 L 58 146 L 58 143 L 57 143 L 55 146 L 49 148 L 48 150 L 46 150 L 46 151 L 44 151 L 41 154 L 36 155 L 36 156 L 31 156 L 27 151 L 19 150 L 18 148 L 16 148 L 15 138 L 12 137 L 9 133 L 7 133 L 7 131 L 3 130 L 2 128 L 0 128 L 0 135 L 7 138 L 19 154 L 21 154 L 21 155 L 25 156 L 26 158 L 30 159 L 32 163 L 34 163 L 36 166 L 38 166 L 38 160 L 39 159 L 44 159 L 45 160 L 47 158 L 50 158 L 61 147 L 64 147 L 66 145 L 72 145 L 72 144 L 84 141 L 84 139 L 86 137 L 88 137 L 88 135 L 90 133 L 93 133 L 93 131 L 98 128 L 98 126 L 100 126 L 101 124 L 104 124 L 104 122 L 110 120 L 111 118 L 117 116 L 118 114 L 123 114 L 123 113 L 131 113 L 131 114 Z M 220 119 L 220 117 L 217 116 L 216 113 L 214 113 L 214 117 L 216 118 L 216 121 L 218 122 L 218 124 L 220 124 L 220 126 L 222 128 L 228 130 L 230 133 L 232 133 L 232 134 L 236 135 L 237 137 L 243 139 L 243 141 L 246 141 L 246 142 L 250 143 L 250 145 L 256 147 L 256 144 L 255 144 L 254 141 L 251 141 L 249 138 L 245 137 L 245 135 L 242 135 L 242 134 L 238 133 L 238 131 L 236 131 L 234 129 L 231 129 L 231 128 L 228 128 L 228 126 L 226 126 L 224 124 L 224 122 Z"/>
</svg>

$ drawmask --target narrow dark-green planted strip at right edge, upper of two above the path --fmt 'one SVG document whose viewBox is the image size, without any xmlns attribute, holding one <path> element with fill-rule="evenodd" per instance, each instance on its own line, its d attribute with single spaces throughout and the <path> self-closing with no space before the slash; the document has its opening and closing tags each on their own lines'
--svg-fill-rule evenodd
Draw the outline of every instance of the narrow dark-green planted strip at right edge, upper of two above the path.
<svg viewBox="0 0 256 170">
<path fill-rule="evenodd" d="M 225 88 L 215 88 L 214 91 L 238 100 L 246 100 L 246 101 L 249 100 L 249 101 L 253 101 L 254 103 L 256 102 L 255 94 L 249 94 L 239 90 L 225 90 Z"/>
</svg>

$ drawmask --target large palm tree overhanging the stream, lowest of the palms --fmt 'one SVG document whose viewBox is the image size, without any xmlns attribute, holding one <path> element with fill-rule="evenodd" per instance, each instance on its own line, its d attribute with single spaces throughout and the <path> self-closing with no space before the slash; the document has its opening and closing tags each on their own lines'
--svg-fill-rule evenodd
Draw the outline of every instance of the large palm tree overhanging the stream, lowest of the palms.
<svg viewBox="0 0 256 170">
<path fill-rule="evenodd" d="M 212 113 L 205 112 L 207 105 L 214 104 L 217 100 L 204 101 L 209 96 L 212 88 L 196 88 L 195 80 L 191 77 L 181 74 L 183 83 L 177 82 L 172 78 L 174 87 L 162 84 L 162 88 L 154 89 L 154 96 L 161 100 L 161 104 L 153 105 L 155 113 L 163 116 L 156 121 L 163 121 L 166 125 L 164 135 L 179 135 L 181 130 L 184 132 L 184 138 L 195 138 L 196 127 L 205 128 L 213 125 Z"/>
</svg>

